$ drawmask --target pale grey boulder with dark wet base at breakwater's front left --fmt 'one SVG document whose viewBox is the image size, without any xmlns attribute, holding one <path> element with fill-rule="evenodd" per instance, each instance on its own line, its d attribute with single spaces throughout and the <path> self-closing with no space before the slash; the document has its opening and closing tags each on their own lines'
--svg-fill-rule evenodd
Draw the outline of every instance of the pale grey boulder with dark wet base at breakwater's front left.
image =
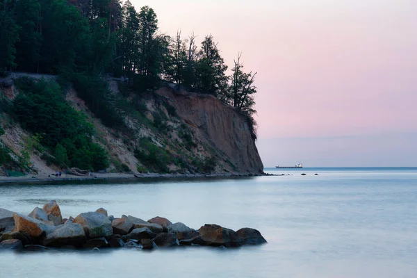
<svg viewBox="0 0 417 278">
<path fill-rule="evenodd" d="M 47 234 L 44 245 L 52 247 L 63 247 L 72 245 L 81 247 L 86 241 L 85 232 L 81 224 L 66 223 L 58 226 L 55 231 Z"/>
</svg>

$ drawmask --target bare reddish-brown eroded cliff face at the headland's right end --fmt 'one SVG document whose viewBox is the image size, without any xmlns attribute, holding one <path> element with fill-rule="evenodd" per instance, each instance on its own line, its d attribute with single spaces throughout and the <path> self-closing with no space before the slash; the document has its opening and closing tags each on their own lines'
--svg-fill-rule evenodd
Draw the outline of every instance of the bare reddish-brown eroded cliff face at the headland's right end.
<svg viewBox="0 0 417 278">
<path fill-rule="evenodd" d="M 245 118 L 211 95 L 158 90 L 172 101 L 181 119 L 195 136 L 227 156 L 240 173 L 263 173 L 263 163 Z"/>
</svg>

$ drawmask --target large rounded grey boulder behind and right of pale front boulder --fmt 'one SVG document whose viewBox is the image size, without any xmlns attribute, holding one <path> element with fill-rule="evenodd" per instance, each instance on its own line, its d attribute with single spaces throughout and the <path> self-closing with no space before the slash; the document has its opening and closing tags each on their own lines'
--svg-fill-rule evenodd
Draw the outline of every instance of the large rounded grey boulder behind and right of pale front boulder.
<svg viewBox="0 0 417 278">
<path fill-rule="evenodd" d="M 81 213 L 74 219 L 73 223 L 83 226 L 87 238 L 101 238 L 113 234 L 111 221 L 102 213 Z"/>
</svg>

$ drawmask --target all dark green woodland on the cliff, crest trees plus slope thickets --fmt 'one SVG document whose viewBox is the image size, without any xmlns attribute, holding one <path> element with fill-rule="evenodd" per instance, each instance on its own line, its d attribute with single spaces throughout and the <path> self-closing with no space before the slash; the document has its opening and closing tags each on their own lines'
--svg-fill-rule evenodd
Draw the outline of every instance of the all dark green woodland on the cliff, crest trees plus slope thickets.
<svg viewBox="0 0 417 278">
<path fill-rule="evenodd" d="M 21 94 L 13 103 L 2 99 L 0 112 L 10 113 L 36 134 L 31 147 L 50 148 L 58 165 L 95 170 L 108 166 L 106 151 L 92 140 L 94 128 L 63 101 L 63 92 L 73 86 L 104 125 L 126 131 L 124 115 L 108 87 L 109 76 L 124 81 L 125 92 L 139 97 L 166 83 L 175 84 L 176 90 L 213 95 L 245 117 L 256 139 L 256 73 L 244 72 L 240 57 L 228 75 L 212 35 L 200 46 L 194 34 L 166 35 L 158 29 L 152 8 L 136 10 L 129 1 L 0 0 L 0 75 L 58 76 L 56 82 L 17 80 Z M 0 163 L 10 160 L 5 153 L 0 148 Z M 136 154 L 147 156 L 149 150 Z M 206 161 L 208 172 L 210 164 L 213 161 Z"/>
</svg>

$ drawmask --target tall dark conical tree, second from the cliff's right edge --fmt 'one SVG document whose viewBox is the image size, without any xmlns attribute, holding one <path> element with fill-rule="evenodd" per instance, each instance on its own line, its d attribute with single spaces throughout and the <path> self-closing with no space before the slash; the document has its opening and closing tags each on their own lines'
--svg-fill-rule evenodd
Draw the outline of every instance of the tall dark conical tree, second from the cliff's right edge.
<svg viewBox="0 0 417 278">
<path fill-rule="evenodd" d="M 226 70 L 227 65 L 220 56 L 218 44 L 213 41 L 212 35 L 206 36 L 197 55 L 196 90 L 220 97 L 227 89 Z"/>
</svg>

